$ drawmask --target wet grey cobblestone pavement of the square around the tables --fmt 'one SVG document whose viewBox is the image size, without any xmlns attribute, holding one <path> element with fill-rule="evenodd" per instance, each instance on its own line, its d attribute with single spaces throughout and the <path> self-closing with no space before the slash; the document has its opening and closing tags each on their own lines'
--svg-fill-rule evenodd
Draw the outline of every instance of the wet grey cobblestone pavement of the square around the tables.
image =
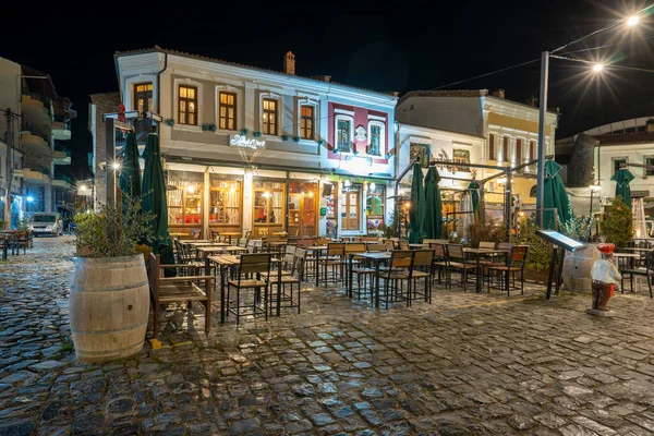
<svg viewBox="0 0 654 436">
<path fill-rule="evenodd" d="M 170 311 L 162 347 L 75 362 L 73 246 L 43 239 L 0 265 L 0 435 L 654 434 L 654 302 L 436 288 L 374 310 L 307 286 L 301 315 L 208 336 Z M 69 238 L 70 240 L 70 238 Z M 189 329 L 189 323 L 191 328 Z"/>
</svg>

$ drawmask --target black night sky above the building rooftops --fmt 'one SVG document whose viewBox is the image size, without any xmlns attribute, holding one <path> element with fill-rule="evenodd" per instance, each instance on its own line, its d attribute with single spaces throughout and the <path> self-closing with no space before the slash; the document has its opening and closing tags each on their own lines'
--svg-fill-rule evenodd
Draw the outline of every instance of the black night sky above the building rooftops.
<svg viewBox="0 0 654 436">
<path fill-rule="evenodd" d="M 118 90 L 116 51 L 159 45 L 280 71 L 283 55 L 291 50 L 298 75 L 328 74 L 334 82 L 404 94 L 536 60 L 543 50 L 652 1 L 220 1 L 191 2 L 185 8 L 117 2 L 105 16 L 99 3 L 86 16 L 62 3 L 49 4 L 51 10 L 25 15 L 20 33 L 5 35 L 0 56 L 50 74 L 57 93 L 71 98 L 77 118 L 69 171 L 83 178 L 86 153 L 92 150 L 88 96 Z M 603 45 L 611 47 L 573 56 L 654 70 L 654 14 L 638 29 L 609 31 L 569 51 Z M 654 116 L 652 72 L 610 70 L 598 78 L 588 70 L 580 63 L 550 61 L 549 107 L 561 112 L 559 138 L 613 121 Z M 524 101 L 530 94 L 538 95 L 540 62 L 445 88 L 504 88 L 508 99 Z"/>
</svg>

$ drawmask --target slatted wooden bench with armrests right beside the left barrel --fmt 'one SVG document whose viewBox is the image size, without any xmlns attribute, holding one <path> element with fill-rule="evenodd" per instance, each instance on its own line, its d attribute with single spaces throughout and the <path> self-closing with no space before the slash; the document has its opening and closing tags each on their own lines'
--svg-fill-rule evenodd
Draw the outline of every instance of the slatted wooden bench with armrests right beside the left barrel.
<svg viewBox="0 0 654 436">
<path fill-rule="evenodd" d="M 205 331 L 211 326 L 211 276 L 186 275 L 183 277 L 162 277 L 167 268 L 183 268 L 184 265 L 161 265 L 161 257 L 150 253 L 147 261 L 150 300 L 154 310 L 153 336 L 159 334 L 159 317 L 161 307 L 172 303 L 185 303 L 191 311 L 193 302 L 199 302 L 205 307 Z M 191 326 L 193 323 L 189 323 Z"/>
</svg>

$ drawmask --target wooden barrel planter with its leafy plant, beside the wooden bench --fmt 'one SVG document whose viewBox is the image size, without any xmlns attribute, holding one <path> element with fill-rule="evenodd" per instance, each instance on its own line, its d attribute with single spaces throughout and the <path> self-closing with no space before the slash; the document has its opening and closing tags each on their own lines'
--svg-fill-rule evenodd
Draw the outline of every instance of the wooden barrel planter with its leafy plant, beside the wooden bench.
<svg viewBox="0 0 654 436">
<path fill-rule="evenodd" d="M 74 217 L 77 257 L 69 313 L 78 361 L 107 362 L 143 348 L 149 287 L 140 246 L 154 240 L 152 218 L 140 197 L 124 192 L 122 207 Z"/>
</svg>

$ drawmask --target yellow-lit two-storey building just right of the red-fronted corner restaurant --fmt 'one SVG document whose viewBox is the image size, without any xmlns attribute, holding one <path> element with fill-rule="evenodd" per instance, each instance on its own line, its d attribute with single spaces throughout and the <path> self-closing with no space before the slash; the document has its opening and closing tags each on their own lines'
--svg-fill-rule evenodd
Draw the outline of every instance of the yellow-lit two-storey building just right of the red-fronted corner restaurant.
<svg viewBox="0 0 654 436">
<path fill-rule="evenodd" d="M 470 136 L 459 146 L 457 141 L 460 140 L 452 135 L 451 152 L 449 147 L 434 144 L 427 152 L 434 160 L 516 167 L 537 158 L 538 113 L 535 100 L 532 99 L 529 104 L 508 100 L 505 98 L 504 89 L 493 95 L 489 95 L 487 89 L 415 90 L 400 98 L 396 119 L 400 125 L 414 124 Z M 546 120 L 545 156 L 548 156 L 554 155 L 558 113 L 548 111 Z M 479 144 L 479 138 L 484 142 L 481 147 L 464 145 Z M 411 156 L 425 153 L 424 145 L 420 143 L 410 147 Z M 482 180 L 500 171 L 477 168 L 475 175 L 477 180 Z M 468 180 L 472 179 L 472 172 L 461 173 L 459 170 L 456 175 L 464 179 L 458 181 L 459 187 L 467 186 Z M 535 165 L 513 174 L 512 194 L 516 198 L 520 197 L 520 202 L 526 209 L 535 208 Z M 486 211 L 492 217 L 499 217 L 500 204 L 504 202 L 504 185 L 495 179 L 486 183 L 485 189 Z"/>
</svg>

